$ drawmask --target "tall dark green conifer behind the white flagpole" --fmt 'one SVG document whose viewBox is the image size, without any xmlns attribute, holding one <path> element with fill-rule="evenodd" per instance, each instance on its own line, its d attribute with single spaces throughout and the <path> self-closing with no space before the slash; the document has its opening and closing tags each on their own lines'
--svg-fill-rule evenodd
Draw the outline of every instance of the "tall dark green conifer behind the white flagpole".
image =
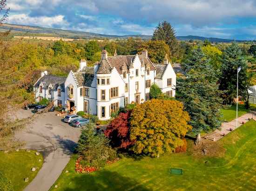
<svg viewBox="0 0 256 191">
<path fill-rule="evenodd" d="M 222 54 L 220 90 L 224 92 L 224 103 L 231 104 L 236 97 L 237 68 L 241 67 L 238 77 L 239 95 L 247 96 L 247 64 L 242 57 L 241 49 L 236 43 L 230 45 Z"/>
</svg>

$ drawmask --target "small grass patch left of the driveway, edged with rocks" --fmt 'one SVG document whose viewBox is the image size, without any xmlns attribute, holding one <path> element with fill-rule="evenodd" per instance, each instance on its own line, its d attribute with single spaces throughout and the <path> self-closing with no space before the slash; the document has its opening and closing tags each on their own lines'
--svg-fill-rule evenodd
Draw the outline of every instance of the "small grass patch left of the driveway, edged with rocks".
<svg viewBox="0 0 256 191">
<path fill-rule="evenodd" d="M 41 162 L 38 162 L 39 159 L 41 159 Z M 0 170 L 4 172 L 6 178 L 11 180 L 14 191 L 22 191 L 36 176 L 42 164 L 42 156 L 36 156 L 35 151 L 30 153 L 25 150 L 8 153 L 0 152 Z M 32 172 L 32 167 L 38 167 L 39 169 Z M 24 178 L 27 177 L 29 181 L 25 182 Z"/>
</svg>

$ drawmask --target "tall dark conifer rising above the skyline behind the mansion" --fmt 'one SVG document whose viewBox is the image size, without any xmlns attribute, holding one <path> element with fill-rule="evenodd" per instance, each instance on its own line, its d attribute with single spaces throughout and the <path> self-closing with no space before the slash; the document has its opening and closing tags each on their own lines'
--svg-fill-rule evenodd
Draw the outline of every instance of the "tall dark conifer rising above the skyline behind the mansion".
<svg viewBox="0 0 256 191">
<path fill-rule="evenodd" d="M 152 40 L 163 40 L 169 45 L 172 56 L 175 56 L 179 50 L 179 43 L 175 37 L 175 30 L 167 21 L 163 21 L 156 26 Z"/>
</svg>

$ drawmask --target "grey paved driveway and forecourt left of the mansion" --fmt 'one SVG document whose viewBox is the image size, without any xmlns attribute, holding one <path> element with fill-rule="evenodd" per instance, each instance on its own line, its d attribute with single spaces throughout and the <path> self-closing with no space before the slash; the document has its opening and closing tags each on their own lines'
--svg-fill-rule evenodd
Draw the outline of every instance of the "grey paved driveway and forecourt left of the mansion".
<svg viewBox="0 0 256 191">
<path fill-rule="evenodd" d="M 41 114 L 15 134 L 16 139 L 26 141 L 25 148 L 35 149 L 44 157 L 42 168 L 25 191 L 48 191 L 67 165 L 79 139 L 80 129 L 69 126 L 61 119 L 55 112 Z"/>
</svg>

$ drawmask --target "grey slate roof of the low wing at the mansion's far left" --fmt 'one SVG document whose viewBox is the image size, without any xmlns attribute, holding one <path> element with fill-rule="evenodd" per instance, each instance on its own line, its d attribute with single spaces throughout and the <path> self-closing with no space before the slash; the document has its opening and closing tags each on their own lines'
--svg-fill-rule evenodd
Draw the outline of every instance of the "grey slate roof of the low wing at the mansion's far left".
<svg viewBox="0 0 256 191">
<path fill-rule="evenodd" d="M 42 76 L 36 83 L 35 87 L 39 87 L 40 83 L 43 84 L 43 88 L 47 89 L 48 86 L 51 84 L 54 90 L 57 90 L 58 86 L 61 86 L 61 91 L 65 90 L 65 83 L 66 77 L 59 77 L 53 75 L 44 75 Z"/>
</svg>

